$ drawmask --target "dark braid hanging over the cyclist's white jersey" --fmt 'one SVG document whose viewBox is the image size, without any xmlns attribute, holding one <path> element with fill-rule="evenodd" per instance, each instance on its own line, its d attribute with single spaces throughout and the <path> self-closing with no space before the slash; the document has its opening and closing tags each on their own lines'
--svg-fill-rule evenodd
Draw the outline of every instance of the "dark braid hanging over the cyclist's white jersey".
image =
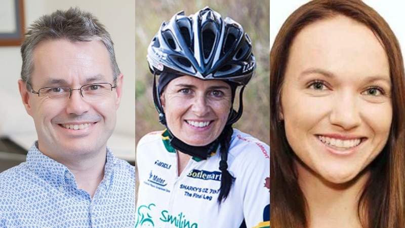
<svg viewBox="0 0 405 228">
<path fill-rule="evenodd" d="M 222 203 L 222 200 L 225 200 L 229 192 L 231 190 L 231 186 L 233 181 L 235 180 L 235 177 L 233 177 L 229 171 L 228 171 L 228 163 L 226 162 L 228 160 L 228 150 L 229 150 L 229 144 L 231 141 L 231 137 L 233 134 L 233 129 L 232 125 L 226 125 L 222 134 L 221 134 L 221 149 L 220 149 L 220 155 L 221 155 L 221 161 L 219 162 L 219 170 L 221 170 L 221 188 L 218 196 L 218 202 L 219 204 Z"/>
</svg>

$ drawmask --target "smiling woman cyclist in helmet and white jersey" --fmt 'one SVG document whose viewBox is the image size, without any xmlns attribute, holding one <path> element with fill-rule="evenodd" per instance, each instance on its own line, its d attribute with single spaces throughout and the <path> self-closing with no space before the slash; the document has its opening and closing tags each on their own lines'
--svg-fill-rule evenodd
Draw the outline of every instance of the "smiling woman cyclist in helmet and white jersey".
<svg viewBox="0 0 405 228">
<path fill-rule="evenodd" d="M 256 67 L 244 29 L 210 8 L 180 12 L 147 58 L 166 130 L 137 146 L 136 227 L 269 227 L 269 147 L 232 128 Z"/>
</svg>

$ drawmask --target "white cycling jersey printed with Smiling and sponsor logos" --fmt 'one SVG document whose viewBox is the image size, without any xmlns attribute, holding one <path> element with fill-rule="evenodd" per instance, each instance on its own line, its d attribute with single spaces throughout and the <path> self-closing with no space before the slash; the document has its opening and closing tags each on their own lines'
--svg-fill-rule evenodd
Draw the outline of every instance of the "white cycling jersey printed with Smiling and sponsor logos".
<svg viewBox="0 0 405 228">
<path fill-rule="evenodd" d="M 237 228 L 244 220 L 247 227 L 269 227 L 269 153 L 268 145 L 234 129 L 227 163 L 236 179 L 219 204 L 219 152 L 207 160 L 190 159 L 178 175 L 168 132 L 145 135 L 137 146 L 135 227 Z"/>
</svg>

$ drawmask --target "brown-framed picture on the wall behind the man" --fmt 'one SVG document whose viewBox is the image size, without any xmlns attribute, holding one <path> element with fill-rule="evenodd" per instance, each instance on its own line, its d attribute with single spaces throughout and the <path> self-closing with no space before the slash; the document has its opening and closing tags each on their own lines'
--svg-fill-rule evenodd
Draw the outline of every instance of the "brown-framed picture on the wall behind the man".
<svg viewBox="0 0 405 228">
<path fill-rule="evenodd" d="M 20 46 L 24 34 L 23 0 L 0 1 L 0 46 Z"/>
</svg>

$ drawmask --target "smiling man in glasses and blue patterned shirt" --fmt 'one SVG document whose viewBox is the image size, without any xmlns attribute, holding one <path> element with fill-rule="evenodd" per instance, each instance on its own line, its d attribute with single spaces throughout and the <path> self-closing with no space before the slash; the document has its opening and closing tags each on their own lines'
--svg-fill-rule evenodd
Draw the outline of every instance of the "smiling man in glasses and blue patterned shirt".
<svg viewBox="0 0 405 228">
<path fill-rule="evenodd" d="M 107 147 L 123 88 L 109 33 L 58 10 L 28 28 L 21 56 L 38 140 L 0 174 L 0 227 L 134 227 L 135 168 Z"/>
</svg>

